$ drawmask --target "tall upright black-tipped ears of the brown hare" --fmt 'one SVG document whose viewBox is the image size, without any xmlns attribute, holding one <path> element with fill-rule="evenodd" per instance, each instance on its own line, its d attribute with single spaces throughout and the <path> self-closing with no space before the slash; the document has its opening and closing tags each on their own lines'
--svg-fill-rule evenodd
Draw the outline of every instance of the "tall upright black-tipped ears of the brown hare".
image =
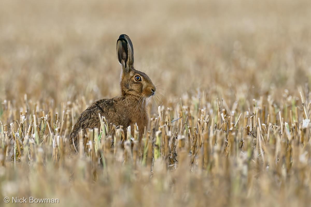
<svg viewBox="0 0 311 207">
<path fill-rule="evenodd" d="M 128 72 L 134 65 L 134 50 L 131 39 L 126 34 L 121 34 L 117 41 L 118 61 L 124 72 Z"/>
</svg>

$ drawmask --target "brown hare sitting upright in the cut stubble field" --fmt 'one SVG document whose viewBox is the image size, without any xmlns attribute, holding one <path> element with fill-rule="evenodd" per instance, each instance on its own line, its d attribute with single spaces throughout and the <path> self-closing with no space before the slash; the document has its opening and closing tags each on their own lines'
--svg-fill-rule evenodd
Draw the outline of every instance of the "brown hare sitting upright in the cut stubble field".
<svg viewBox="0 0 311 207">
<path fill-rule="evenodd" d="M 100 128 L 99 113 L 108 123 L 124 128 L 137 123 L 139 136 L 148 124 L 146 98 L 156 92 L 151 79 L 143 72 L 134 69 L 134 51 L 130 38 L 121 34 L 117 40 L 117 56 L 121 71 L 121 96 L 95 101 L 81 113 L 70 134 L 70 145 L 78 146 L 79 132 L 86 134 L 87 128 Z"/>
</svg>

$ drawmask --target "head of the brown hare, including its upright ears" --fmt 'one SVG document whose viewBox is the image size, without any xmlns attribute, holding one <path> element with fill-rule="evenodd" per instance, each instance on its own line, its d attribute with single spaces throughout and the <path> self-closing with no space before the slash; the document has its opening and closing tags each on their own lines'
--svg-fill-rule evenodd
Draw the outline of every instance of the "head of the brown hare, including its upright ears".
<svg viewBox="0 0 311 207">
<path fill-rule="evenodd" d="M 156 87 L 145 73 L 134 69 L 134 50 L 131 39 L 121 34 L 117 41 L 118 61 L 122 66 L 122 95 L 150 97 L 155 94 Z"/>
</svg>

